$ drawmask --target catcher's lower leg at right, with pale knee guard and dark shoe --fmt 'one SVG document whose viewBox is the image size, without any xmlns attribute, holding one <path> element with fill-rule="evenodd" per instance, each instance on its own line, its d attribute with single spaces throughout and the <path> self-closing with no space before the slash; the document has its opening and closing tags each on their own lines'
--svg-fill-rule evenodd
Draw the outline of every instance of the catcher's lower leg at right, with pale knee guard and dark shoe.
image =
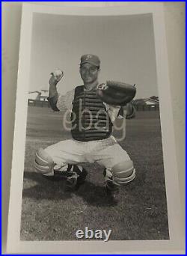
<svg viewBox="0 0 187 256">
<path fill-rule="evenodd" d="M 115 192 L 119 186 L 126 185 L 135 178 L 132 160 L 117 163 L 112 168 L 105 168 L 105 187 L 107 192 Z"/>
</svg>

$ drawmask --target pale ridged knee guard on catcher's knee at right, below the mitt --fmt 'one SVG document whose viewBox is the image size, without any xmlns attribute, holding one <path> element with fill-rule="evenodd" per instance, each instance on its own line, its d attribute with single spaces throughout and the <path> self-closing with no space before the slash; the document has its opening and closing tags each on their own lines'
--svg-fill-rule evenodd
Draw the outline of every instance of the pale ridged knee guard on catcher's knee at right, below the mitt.
<svg viewBox="0 0 187 256">
<path fill-rule="evenodd" d="M 135 178 L 135 168 L 132 160 L 120 162 L 111 168 L 113 180 L 119 185 L 125 185 Z"/>
</svg>

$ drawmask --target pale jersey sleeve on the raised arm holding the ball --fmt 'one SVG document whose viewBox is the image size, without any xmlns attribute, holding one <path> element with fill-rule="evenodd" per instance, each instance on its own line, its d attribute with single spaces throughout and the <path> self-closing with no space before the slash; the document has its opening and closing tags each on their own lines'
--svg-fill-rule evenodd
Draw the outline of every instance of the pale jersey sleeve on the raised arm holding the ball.
<svg viewBox="0 0 187 256">
<path fill-rule="evenodd" d="M 75 89 L 67 91 L 66 94 L 58 94 L 57 108 L 60 111 L 64 109 L 72 110 L 72 102 L 74 99 Z"/>
</svg>

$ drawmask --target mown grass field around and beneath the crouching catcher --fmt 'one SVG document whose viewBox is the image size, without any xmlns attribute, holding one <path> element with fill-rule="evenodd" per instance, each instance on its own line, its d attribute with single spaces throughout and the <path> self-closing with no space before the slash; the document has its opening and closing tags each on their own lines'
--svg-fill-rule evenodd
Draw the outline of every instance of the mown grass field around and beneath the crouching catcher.
<svg viewBox="0 0 187 256">
<path fill-rule="evenodd" d="M 168 216 L 159 112 L 137 112 L 120 144 L 131 156 L 136 178 L 114 197 L 105 195 L 102 168 L 85 164 L 86 182 L 68 192 L 33 168 L 34 153 L 70 138 L 62 114 L 28 107 L 21 240 L 76 240 L 76 231 L 111 229 L 111 240 L 168 240 Z"/>
</svg>

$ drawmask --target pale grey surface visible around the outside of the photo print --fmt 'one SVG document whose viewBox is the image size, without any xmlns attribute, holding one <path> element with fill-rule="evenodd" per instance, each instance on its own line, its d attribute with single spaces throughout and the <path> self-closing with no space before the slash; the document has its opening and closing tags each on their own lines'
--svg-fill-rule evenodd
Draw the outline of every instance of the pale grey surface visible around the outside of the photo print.
<svg viewBox="0 0 187 256">
<path fill-rule="evenodd" d="M 33 2 L 34 3 L 34 2 Z M 35 2 L 37 4 L 73 6 L 121 6 L 125 2 Z M 10 192 L 10 170 L 13 147 L 16 79 L 19 59 L 21 2 L 2 3 L 2 252 L 5 252 L 7 211 Z M 169 76 L 177 148 L 180 194 L 185 218 L 185 3 L 165 3 L 165 21 L 168 41 Z M 168 127 L 169 129 L 169 127 Z M 185 222 L 184 222 L 185 223 Z M 185 225 L 184 225 L 185 226 Z"/>
</svg>

